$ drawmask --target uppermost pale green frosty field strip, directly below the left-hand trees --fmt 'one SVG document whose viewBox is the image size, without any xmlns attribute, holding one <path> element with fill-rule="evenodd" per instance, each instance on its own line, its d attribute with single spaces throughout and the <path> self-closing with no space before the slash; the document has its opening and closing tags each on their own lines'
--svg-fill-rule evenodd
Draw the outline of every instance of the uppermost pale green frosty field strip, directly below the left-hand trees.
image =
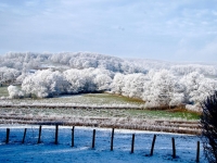
<svg viewBox="0 0 217 163">
<path fill-rule="evenodd" d="M 7 87 L 0 87 L 0 97 L 8 93 Z M 71 105 L 131 105 L 144 106 L 144 101 L 126 98 L 113 93 L 81 93 L 73 96 L 61 96 L 59 98 L 44 99 L 10 99 L 0 100 L 0 104 L 71 104 Z"/>
</svg>

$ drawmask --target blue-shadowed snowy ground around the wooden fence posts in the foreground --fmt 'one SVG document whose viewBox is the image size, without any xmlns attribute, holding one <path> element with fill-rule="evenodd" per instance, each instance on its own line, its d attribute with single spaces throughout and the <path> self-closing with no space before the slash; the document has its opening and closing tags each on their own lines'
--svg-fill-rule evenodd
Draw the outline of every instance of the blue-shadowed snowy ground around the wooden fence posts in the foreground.
<svg viewBox="0 0 217 163">
<path fill-rule="evenodd" d="M 5 130 L 11 128 L 10 142 L 5 145 Z M 24 128 L 27 128 L 22 145 Z M 114 151 L 110 151 L 112 129 L 75 127 L 75 147 L 71 147 L 72 127 L 59 128 L 59 145 L 54 145 L 55 127 L 42 126 L 41 143 L 38 141 L 39 126 L 0 126 L 0 162 L 149 162 L 193 163 L 196 158 L 196 136 L 115 129 Z M 97 129 L 95 148 L 91 149 L 92 130 Z M 131 137 L 135 138 L 135 153 L 130 154 Z M 153 156 L 150 148 L 153 135 L 156 142 Z M 177 158 L 173 159 L 171 137 L 176 140 Z M 206 163 L 201 146 L 200 162 Z"/>
</svg>

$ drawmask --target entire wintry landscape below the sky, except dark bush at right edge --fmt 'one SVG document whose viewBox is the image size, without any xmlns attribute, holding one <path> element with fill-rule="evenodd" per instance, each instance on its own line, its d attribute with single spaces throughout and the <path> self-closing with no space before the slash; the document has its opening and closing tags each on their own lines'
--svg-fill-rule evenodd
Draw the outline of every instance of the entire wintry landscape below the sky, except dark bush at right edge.
<svg viewBox="0 0 217 163">
<path fill-rule="evenodd" d="M 0 60 L 0 162 L 191 163 L 197 155 L 206 163 L 201 102 L 217 90 L 216 65 L 90 52 L 9 52 Z"/>
</svg>

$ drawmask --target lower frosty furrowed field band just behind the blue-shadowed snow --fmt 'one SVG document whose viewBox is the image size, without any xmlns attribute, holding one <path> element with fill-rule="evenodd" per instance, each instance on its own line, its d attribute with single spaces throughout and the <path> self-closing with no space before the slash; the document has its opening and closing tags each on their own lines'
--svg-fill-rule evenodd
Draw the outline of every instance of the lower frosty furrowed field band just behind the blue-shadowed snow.
<svg viewBox="0 0 217 163">
<path fill-rule="evenodd" d="M 161 115 L 161 112 L 164 114 Z M 78 108 L 1 108 L 1 124 L 61 124 L 68 126 L 98 126 L 140 130 L 155 130 L 197 135 L 199 121 L 187 121 L 184 114 L 173 117 L 166 111 L 135 109 Z M 186 116 L 187 117 L 187 116 Z"/>
</svg>

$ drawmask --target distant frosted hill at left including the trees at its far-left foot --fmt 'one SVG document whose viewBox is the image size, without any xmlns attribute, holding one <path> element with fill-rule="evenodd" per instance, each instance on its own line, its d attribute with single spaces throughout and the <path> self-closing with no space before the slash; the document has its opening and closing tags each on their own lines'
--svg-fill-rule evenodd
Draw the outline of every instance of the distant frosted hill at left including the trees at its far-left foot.
<svg viewBox="0 0 217 163">
<path fill-rule="evenodd" d="M 146 70 L 136 63 L 98 53 L 90 52 L 61 52 L 61 53 L 34 53 L 9 52 L 0 55 L 0 85 L 23 79 L 37 70 L 52 67 L 61 72 L 69 68 L 101 68 L 123 74 L 145 73 Z M 22 74 L 22 75 L 21 75 Z M 17 76 L 21 75 L 18 78 Z"/>
</svg>

